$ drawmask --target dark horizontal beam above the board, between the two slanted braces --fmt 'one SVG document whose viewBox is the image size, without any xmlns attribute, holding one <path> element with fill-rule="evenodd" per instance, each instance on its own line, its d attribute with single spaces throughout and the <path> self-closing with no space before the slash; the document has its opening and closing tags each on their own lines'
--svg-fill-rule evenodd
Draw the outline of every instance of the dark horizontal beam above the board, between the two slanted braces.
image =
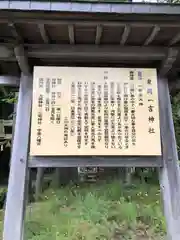
<svg viewBox="0 0 180 240">
<path fill-rule="evenodd" d="M 76 58 L 100 57 L 122 60 L 162 60 L 167 48 L 132 47 L 132 46 L 98 46 L 98 45 L 26 45 L 27 55 L 32 58 Z"/>
</svg>

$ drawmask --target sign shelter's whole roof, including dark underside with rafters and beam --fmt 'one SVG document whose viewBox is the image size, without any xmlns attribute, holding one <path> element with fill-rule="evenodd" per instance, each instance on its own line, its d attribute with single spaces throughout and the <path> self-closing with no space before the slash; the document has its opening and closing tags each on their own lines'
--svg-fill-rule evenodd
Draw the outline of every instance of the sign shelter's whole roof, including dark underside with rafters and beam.
<svg viewBox="0 0 180 240">
<path fill-rule="evenodd" d="M 17 46 L 20 46 L 20 48 Z M 33 65 L 180 71 L 180 5 L 0 1 L 0 73 Z"/>
</svg>

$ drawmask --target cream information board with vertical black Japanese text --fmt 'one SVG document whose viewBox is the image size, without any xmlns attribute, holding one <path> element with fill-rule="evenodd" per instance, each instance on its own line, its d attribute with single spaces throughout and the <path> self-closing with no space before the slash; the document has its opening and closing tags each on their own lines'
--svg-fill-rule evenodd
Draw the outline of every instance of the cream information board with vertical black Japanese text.
<svg viewBox="0 0 180 240">
<path fill-rule="evenodd" d="M 156 69 L 35 67 L 30 155 L 161 155 Z"/>
</svg>

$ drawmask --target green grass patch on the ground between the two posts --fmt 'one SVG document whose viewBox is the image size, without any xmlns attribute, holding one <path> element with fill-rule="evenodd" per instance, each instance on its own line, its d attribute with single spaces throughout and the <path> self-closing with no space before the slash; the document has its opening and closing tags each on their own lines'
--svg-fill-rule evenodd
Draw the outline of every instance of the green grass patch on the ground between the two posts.
<svg viewBox="0 0 180 240">
<path fill-rule="evenodd" d="M 153 185 L 118 181 L 49 189 L 27 208 L 28 240 L 163 239 L 160 192 Z"/>
</svg>

